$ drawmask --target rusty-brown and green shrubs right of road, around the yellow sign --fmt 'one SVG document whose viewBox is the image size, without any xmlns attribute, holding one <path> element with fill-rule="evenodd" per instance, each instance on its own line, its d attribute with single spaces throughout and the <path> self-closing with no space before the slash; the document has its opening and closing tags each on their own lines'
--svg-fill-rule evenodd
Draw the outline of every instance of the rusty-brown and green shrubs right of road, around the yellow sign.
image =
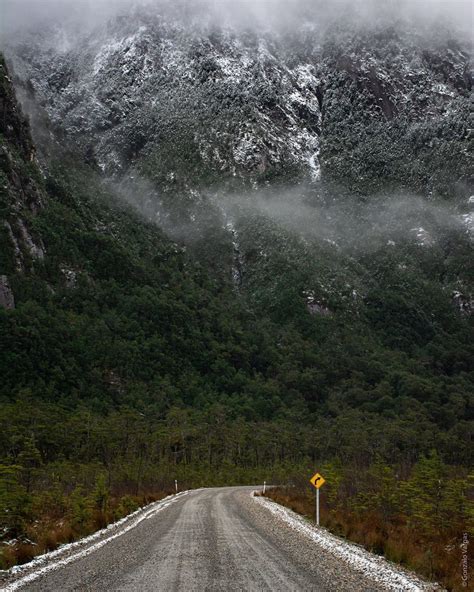
<svg viewBox="0 0 474 592">
<path fill-rule="evenodd" d="M 307 467 L 311 475 L 314 467 Z M 469 495 L 474 475 L 453 470 L 432 451 L 413 465 L 380 459 L 368 466 L 340 462 L 318 466 L 327 479 L 321 489 L 321 525 L 370 551 L 463 590 L 463 533 L 474 526 Z M 314 520 L 314 489 L 295 475 L 291 485 L 267 496 Z"/>
</svg>

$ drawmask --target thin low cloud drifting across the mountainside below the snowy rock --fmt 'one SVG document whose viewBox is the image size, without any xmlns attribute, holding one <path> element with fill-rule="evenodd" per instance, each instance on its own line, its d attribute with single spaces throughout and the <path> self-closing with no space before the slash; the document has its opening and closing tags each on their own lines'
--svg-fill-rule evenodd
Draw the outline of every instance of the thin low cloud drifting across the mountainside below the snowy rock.
<svg viewBox="0 0 474 592">
<path fill-rule="evenodd" d="M 337 245 L 349 252 L 370 252 L 405 241 L 433 246 L 451 233 L 470 231 L 459 204 L 431 202 L 407 193 L 376 195 L 368 201 L 337 190 L 324 201 L 301 187 L 268 188 L 249 193 L 218 194 L 215 202 L 237 222 L 263 216 L 303 239 Z"/>
</svg>

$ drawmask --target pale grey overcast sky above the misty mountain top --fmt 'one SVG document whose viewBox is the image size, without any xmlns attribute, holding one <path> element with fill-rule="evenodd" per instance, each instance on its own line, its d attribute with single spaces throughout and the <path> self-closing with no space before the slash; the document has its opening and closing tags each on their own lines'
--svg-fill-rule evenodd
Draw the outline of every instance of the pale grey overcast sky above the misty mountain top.
<svg viewBox="0 0 474 592">
<path fill-rule="evenodd" d="M 0 0 L 0 34 L 34 28 L 44 20 L 81 19 L 95 24 L 133 3 L 150 4 L 157 10 L 168 4 L 189 14 L 201 2 L 209 5 L 202 10 L 206 17 L 232 24 L 288 24 L 308 18 L 324 24 L 354 14 L 366 24 L 394 16 L 422 25 L 442 19 L 472 31 L 471 0 Z"/>
</svg>

